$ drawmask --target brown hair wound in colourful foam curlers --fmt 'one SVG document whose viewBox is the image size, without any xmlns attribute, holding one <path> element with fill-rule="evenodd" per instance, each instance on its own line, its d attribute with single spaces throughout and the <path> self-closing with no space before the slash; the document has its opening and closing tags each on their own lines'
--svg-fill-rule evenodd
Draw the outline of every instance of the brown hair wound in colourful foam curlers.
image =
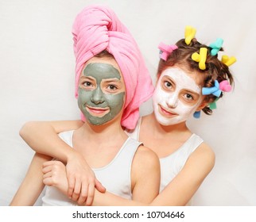
<svg viewBox="0 0 256 222">
<path fill-rule="evenodd" d="M 180 65 L 181 67 L 188 69 L 188 71 L 202 75 L 202 87 L 214 86 L 215 80 L 218 82 L 227 80 L 231 85 L 234 84 L 234 78 L 227 65 L 219 61 L 217 57 L 218 55 L 211 55 L 211 48 L 207 45 L 200 44 L 200 42 L 194 38 L 188 45 L 185 43 L 184 39 L 181 39 L 176 42 L 176 46 L 178 48 L 169 55 L 166 61 L 164 59 L 160 59 L 157 69 L 157 77 L 159 77 L 162 71 L 165 71 L 168 67 Z M 200 48 L 203 47 L 208 48 L 208 54 L 205 62 L 206 69 L 200 70 L 198 63 L 196 63 L 191 56 L 194 52 L 199 53 Z M 221 48 L 220 51 L 223 51 L 223 48 Z M 219 98 L 221 97 L 223 97 L 223 93 L 219 96 Z M 216 98 L 217 97 L 215 97 L 215 95 L 210 94 L 205 97 L 204 101 L 211 103 L 215 101 Z M 202 110 L 208 115 L 211 115 L 212 113 L 212 110 L 208 106 L 204 107 Z"/>
</svg>

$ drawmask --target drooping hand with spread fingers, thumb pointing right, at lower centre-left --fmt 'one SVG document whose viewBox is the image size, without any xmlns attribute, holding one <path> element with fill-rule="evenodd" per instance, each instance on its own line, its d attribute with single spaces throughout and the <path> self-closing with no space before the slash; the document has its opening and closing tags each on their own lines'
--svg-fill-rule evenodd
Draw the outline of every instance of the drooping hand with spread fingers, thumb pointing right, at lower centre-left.
<svg viewBox="0 0 256 222">
<path fill-rule="evenodd" d="M 101 193 L 106 191 L 82 155 L 76 153 L 71 156 L 67 161 L 66 170 L 68 197 L 71 197 L 72 201 L 77 201 L 79 205 L 92 204 L 95 188 Z"/>
</svg>

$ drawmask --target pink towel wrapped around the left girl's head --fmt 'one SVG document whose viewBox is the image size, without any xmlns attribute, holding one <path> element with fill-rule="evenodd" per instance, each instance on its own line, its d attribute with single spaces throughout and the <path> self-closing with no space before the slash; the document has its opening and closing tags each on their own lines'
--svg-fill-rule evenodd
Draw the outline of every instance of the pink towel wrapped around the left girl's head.
<svg viewBox="0 0 256 222">
<path fill-rule="evenodd" d="M 139 106 L 153 94 L 153 84 L 138 45 L 113 10 L 88 6 L 76 17 L 72 27 L 76 56 L 76 98 L 83 64 L 107 50 L 117 61 L 126 84 L 126 103 L 122 126 L 135 128 Z M 83 115 L 82 115 L 83 116 Z M 82 117 L 84 121 L 84 117 Z"/>
</svg>

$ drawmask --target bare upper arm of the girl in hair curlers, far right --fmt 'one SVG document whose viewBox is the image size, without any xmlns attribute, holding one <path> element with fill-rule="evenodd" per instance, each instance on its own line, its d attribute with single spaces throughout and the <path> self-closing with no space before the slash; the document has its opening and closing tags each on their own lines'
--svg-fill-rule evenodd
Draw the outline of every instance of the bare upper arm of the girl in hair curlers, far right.
<svg viewBox="0 0 256 222">
<path fill-rule="evenodd" d="M 186 205 L 215 164 L 215 154 L 206 144 L 192 153 L 184 168 L 151 205 Z"/>
</svg>

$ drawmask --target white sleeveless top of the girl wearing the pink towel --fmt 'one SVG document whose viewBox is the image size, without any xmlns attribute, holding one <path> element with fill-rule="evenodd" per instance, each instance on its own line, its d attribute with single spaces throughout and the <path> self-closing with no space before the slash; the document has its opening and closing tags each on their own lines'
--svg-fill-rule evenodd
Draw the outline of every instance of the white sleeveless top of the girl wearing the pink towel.
<svg viewBox="0 0 256 222">
<path fill-rule="evenodd" d="M 72 146 L 72 136 L 74 131 L 61 132 L 60 138 L 66 144 Z M 131 199 L 131 166 L 135 152 L 142 143 L 130 137 L 122 145 L 118 154 L 115 155 L 111 163 L 101 168 L 92 169 L 95 177 L 106 187 L 107 191 L 114 193 L 119 197 Z M 77 205 L 76 202 L 70 200 L 66 195 L 61 193 L 53 186 L 47 186 L 45 196 L 42 197 L 44 206 L 72 206 Z"/>
</svg>

